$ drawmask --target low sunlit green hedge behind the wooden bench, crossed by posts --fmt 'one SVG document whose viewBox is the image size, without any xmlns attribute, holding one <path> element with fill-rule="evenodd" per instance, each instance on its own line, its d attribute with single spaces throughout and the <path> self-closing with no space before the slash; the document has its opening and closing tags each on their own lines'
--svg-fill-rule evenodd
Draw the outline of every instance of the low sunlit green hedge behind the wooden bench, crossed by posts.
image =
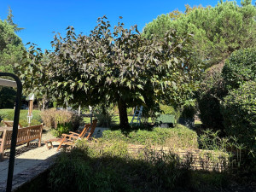
<svg viewBox="0 0 256 192">
<path fill-rule="evenodd" d="M 41 112 L 39 110 L 32 111 L 32 123 L 31 125 L 39 125 L 42 122 Z M 0 118 L 4 120 L 14 120 L 14 109 L 0 109 Z M 20 125 L 27 126 L 27 110 L 20 110 Z"/>
</svg>

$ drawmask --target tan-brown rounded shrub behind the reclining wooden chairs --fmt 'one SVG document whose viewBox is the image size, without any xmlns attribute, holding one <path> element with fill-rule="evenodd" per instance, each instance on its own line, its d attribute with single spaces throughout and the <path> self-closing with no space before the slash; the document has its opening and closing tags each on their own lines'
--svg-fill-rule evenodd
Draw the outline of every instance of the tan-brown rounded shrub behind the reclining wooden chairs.
<svg viewBox="0 0 256 192">
<path fill-rule="evenodd" d="M 57 128 L 58 124 L 70 122 L 73 126 L 73 131 L 79 129 L 79 124 L 81 121 L 81 117 L 75 113 L 67 112 L 64 110 L 56 110 L 55 108 L 44 110 L 44 112 L 41 113 L 41 117 L 43 119 L 44 125 L 54 129 Z"/>
</svg>

